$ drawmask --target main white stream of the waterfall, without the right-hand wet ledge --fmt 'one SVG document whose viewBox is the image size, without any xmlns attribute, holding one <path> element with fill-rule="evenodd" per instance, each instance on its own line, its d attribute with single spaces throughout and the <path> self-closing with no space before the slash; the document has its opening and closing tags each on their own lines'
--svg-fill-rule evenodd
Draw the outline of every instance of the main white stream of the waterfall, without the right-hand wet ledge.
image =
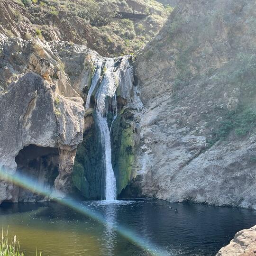
<svg viewBox="0 0 256 256">
<path fill-rule="evenodd" d="M 91 87 L 88 92 L 86 109 L 90 107 L 91 95 L 95 90 L 97 84 L 101 80 L 101 74 L 103 73 L 103 78 L 101 84 L 95 94 L 95 110 L 97 113 L 97 120 L 99 124 L 99 129 L 101 133 L 101 144 L 103 146 L 103 158 L 105 164 L 105 198 L 106 200 L 116 199 L 116 178 L 111 163 L 111 142 L 110 142 L 110 130 L 107 122 L 107 114 L 110 110 L 117 115 L 117 97 L 116 81 L 117 73 L 115 73 L 116 68 L 114 67 L 114 59 L 107 58 L 106 62 L 103 64 L 99 61 L 96 65 L 95 72 L 93 74 Z"/>
</svg>

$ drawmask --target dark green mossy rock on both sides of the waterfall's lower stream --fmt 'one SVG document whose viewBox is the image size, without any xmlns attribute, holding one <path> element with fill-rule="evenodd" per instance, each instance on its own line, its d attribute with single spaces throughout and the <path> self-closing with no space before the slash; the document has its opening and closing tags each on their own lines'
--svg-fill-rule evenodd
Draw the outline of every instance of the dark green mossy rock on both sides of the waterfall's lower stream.
<svg viewBox="0 0 256 256">
<path fill-rule="evenodd" d="M 133 110 L 121 110 L 111 128 L 112 166 L 118 195 L 136 176 L 133 117 Z M 109 115 L 108 119 L 110 127 L 113 117 Z M 72 174 L 73 186 L 85 199 L 101 200 L 104 198 L 105 188 L 104 161 L 101 135 L 94 110 L 87 114 L 85 123 L 90 125 L 85 125 L 83 142 L 76 153 Z"/>
</svg>

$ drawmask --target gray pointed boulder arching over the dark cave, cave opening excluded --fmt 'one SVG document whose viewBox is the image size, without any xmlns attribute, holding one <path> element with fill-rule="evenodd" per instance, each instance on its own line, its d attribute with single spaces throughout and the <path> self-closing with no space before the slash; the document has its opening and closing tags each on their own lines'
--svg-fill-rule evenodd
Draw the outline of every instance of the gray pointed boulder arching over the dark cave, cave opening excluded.
<svg viewBox="0 0 256 256">
<path fill-rule="evenodd" d="M 0 95 L 0 168 L 14 174 L 15 157 L 29 145 L 59 148 L 57 190 L 70 189 L 76 147 L 82 142 L 84 108 L 81 98 L 66 98 L 36 73 L 25 74 Z M 0 201 L 17 201 L 17 190 L 2 182 Z"/>
</svg>

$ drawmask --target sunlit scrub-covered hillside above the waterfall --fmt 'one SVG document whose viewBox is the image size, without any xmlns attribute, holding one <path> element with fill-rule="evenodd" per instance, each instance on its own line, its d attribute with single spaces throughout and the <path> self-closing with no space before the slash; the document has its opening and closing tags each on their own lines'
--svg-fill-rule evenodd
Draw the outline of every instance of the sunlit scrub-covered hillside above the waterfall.
<svg viewBox="0 0 256 256">
<path fill-rule="evenodd" d="M 103 56 L 141 49 L 170 11 L 155 0 L 1 0 L 0 9 L 0 33 L 25 40 L 39 37 L 83 44 Z M 142 20 L 116 18 L 116 11 L 133 9 L 148 16 Z"/>
</svg>

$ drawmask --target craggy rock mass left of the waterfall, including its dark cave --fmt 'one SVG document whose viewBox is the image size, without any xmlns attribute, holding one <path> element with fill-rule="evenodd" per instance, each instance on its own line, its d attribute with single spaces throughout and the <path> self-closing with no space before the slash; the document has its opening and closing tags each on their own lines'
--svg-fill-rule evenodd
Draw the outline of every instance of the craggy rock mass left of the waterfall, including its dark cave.
<svg viewBox="0 0 256 256">
<path fill-rule="evenodd" d="M 34 186 L 42 183 L 48 192 L 69 193 L 76 148 L 82 143 L 82 98 L 48 46 L 40 40 L 2 38 L 1 171 L 15 174 L 18 165 L 18 172 L 34 177 Z M 0 201 L 39 200 L 47 198 L 1 181 Z"/>
</svg>

